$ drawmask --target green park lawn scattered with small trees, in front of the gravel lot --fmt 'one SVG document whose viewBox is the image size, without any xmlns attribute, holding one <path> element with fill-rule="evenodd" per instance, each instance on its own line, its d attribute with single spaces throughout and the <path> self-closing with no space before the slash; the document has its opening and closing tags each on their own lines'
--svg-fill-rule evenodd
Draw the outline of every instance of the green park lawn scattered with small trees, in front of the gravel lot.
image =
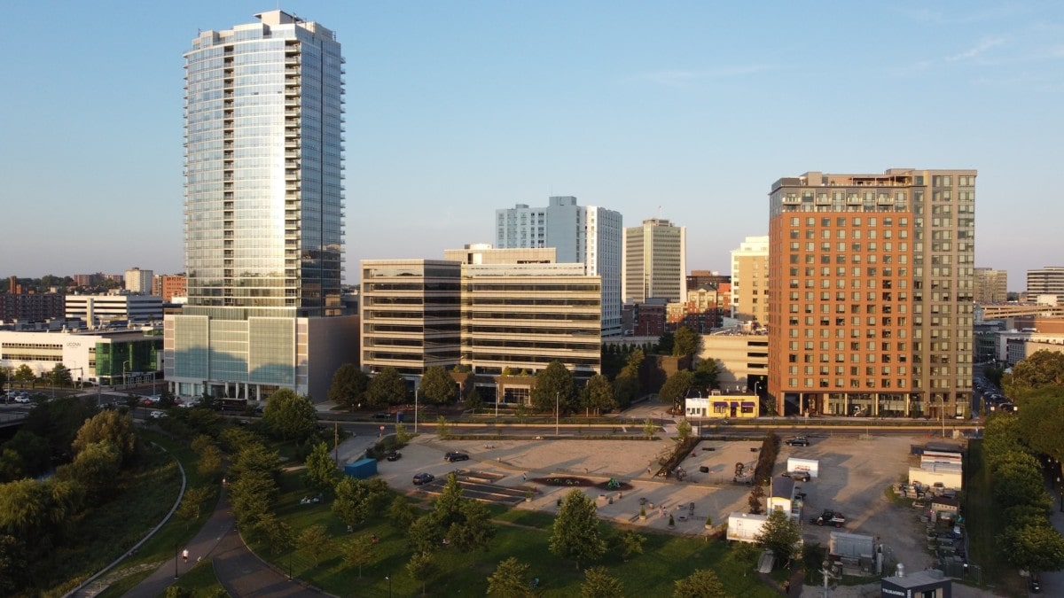
<svg viewBox="0 0 1064 598">
<path fill-rule="evenodd" d="M 390 591 L 396 596 L 415 596 L 421 593 L 420 584 L 406 572 L 410 549 L 405 530 L 398 530 L 386 520 L 370 521 L 348 533 L 347 527 L 332 514 L 329 502 L 321 504 L 299 504 L 299 499 L 309 494 L 299 480 L 298 474 L 287 474 L 282 480 L 278 515 L 293 527 L 298 534 L 312 526 L 325 526 L 335 538 L 333 546 L 315 565 L 314 561 L 300 551 L 275 552 L 266 543 L 251 541 L 251 546 L 260 557 L 271 560 L 279 568 L 310 582 L 326 592 L 338 596 L 387 596 Z M 453 549 L 436 552 L 436 575 L 429 581 L 429 594 L 433 596 L 483 596 L 487 588 L 486 578 L 496 565 L 504 559 L 516 557 L 518 561 L 531 565 L 531 577 L 539 578 L 541 596 L 576 596 L 580 594 L 583 574 L 575 563 L 558 559 L 550 553 L 548 542 L 553 516 L 546 513 L 504 510 L 493 506 L 493 514 L 500 524 L 488 552 L 463 553 Z M 513 525 L 504 525 L 513 524 Z M 603 534 L 612 533 L 612 528 L 601 524 Z M 376 560 L 363 567 L 362 577 L 358 568 L 344 563 L 338 549 L 343 542 L 368 542 L 377 535 L 379 543 L 373 547 Z M 729 596 L 775 596 L 776 593 L 764 585 L 753 570 L 750 560 L 737 559 L 722 542 L 706 543 L 703 538 L 691 538 L 671 534 L 646 533 L 644 553 L 622 563 L 618 557 L 608 554 L 598 563 L 581 563 L 605 566 L 610 575 L 617 577 L 629 596 L 656 596 L 670 594 L 674 580 L 691 575 L 697 568 L 711 568 L 725 584 Z"/>
</svg>

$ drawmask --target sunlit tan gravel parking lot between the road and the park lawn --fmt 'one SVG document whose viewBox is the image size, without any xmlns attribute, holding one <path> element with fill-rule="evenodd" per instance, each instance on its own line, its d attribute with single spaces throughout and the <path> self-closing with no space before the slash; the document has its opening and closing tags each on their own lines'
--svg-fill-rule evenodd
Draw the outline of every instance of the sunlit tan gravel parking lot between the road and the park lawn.
<svg viewBox="0 0 1064 598">
<path fill-rule="evenodd" d="M 870 436 L 854 434 L 811 436 L 808 447 L 781 444 L 775 479 L 786 469 L 788 456 L 819 461 L 819 477 L 799 483 L 807 493 L 802 530 L 807 543 L 828 545 L 834 528 L 810 525 L 808 519 L 825 509 L 841 511 L 847 522 L 843 531 L 880 537 L 886 550 L 909 570 L 932 565 L 927 552 L 918 514 L 896 506 L 884 498 L 891 484 L 908 474 L 910 445 L 921 444 L 925 436 Z M 362 439 L 371 444 L 371 439 Z M 425 471 L 446 477 L 455 468 L 485 471 L 504 486 L 535 491 L 530 502 L 518 509 L 553 512 L 556 500 L 571 488 L 534 483 L 534 479 L 554 476 L 579 476 L 596 482 L 611 478 L 630 483 L 626 492 L 601 487 L 582 488 L 596 500 L 599 514 L 606 519 L 665 531 L 668 515 L 674 514 L 674 533 L 705 533 L 705 518 L 714 526 L 727 521 L 731 512 L 746 512 L 750 486 L 732 483 L 736 463 L 752 467 L 760 443 L 703 441 L 681 466 L 687 471 L 684 481 L 664 479 L 654 474 L 658 459 L 674 446 L 671 439 L 639 441 L 530 441 L 502 439 L 489 444 L 473 441 L 442 441 L 421 435 L 402 450 L 399 461 L 382 461 L 380 475 L 400 491 L 417 492 L 413 475 Z M 448 463 L 444 453 L 461 450 L 469 461 Z M 709 471 L 700 471 L 705 467 Z M 767 493 L 767 488 L 766 488 Z M 422 495 L 423 496 L 423 495 Z M 641 501 L 641 499 L 643 499 Z M 641 502 L 648 516 L 639 519 Z M 694 516 L 691 504 L 694 503 Z M 682 515 L 682 519 L 680 518 Z"/>
</svg>

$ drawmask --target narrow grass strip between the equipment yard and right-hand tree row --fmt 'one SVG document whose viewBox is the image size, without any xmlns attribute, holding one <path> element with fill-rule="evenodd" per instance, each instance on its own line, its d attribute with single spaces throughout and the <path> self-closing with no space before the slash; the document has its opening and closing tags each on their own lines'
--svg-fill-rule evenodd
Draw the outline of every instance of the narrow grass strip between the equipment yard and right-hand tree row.
<svg viewBox="0 0 1064 598">
<path fill-rule="evenodd" d="M 983 585 L 1009 596 L 1027 596 L 1027 584 L 1015 567 L 1005 562 L 997 549 L 995 536 L 1001 531 L 1000 518 L 994 505 L 991 470 L 983 459 L 982 441 L 968 443 L 968 474 L 965 478 L 965 520 L 968 550 L 972 563 L 982 567 Z"/>
</svg>

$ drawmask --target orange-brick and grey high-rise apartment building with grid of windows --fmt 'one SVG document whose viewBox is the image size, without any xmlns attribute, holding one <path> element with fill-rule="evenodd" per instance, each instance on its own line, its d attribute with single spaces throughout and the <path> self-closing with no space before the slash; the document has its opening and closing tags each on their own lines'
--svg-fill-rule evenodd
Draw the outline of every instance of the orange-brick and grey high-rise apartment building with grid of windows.
<svg viewBox="0 0 1064 598">
<path fill-rule="evenodd" d="M 777 409 L 965 415 L 976 170 L 807 172 L 769 193 Z"/>
</svg>

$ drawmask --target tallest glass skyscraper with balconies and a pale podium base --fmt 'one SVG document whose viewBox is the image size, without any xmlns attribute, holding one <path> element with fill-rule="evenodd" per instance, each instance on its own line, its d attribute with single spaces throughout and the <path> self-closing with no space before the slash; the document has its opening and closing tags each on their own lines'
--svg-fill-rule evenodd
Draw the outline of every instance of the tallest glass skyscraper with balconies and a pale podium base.
<svg viewBox="0 0 1064 598">
<path fill-rule="evenodd" d="M 184 395 L 306 392 L 304 320 L 340 314 L 340 46 L 282 11 L 255 17 L 185 54 L 188 303 L 164 353 Z"/>
</svg>

